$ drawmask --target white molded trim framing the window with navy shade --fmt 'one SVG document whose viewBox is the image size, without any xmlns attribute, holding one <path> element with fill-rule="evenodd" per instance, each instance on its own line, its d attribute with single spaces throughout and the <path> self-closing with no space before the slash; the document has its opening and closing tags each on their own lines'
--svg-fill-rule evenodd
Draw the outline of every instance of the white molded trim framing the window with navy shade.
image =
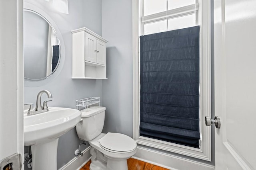
<svg viewBox="0 0 256 170">
<path fill-rule="evenodd" d="M 211 113 L 211 76 L 210 76 L 210 0 L 199 0 L 200 23 L 200 148 L 187 147 L 166 141 L 139 136 L 140 122 L 140 65 L 139 32 L 140 0 L 133 0 L 133 138 L 137 144 L 154 147 L 194 158 L 211 161 L 211 129 L 204 124 L 204 117 Z M 202 57 L 203 56 L 203 57 Z"/>
</svg>

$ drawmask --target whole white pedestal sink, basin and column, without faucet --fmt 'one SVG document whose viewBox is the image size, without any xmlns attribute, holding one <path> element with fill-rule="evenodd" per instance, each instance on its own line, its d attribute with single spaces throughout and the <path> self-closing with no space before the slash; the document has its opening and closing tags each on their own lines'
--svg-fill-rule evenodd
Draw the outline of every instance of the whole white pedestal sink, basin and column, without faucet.
<svg viewBox="0 0 256 170">
<path fill-rule="evenodd" d="M 26 115 L 24 111 L 24 145 L 32 149 L 33 170 L 57 170 L 58 139 L 76 126 L 81 112 L 76 109 L 49 107 L 49 111 Z"/>
</svg>

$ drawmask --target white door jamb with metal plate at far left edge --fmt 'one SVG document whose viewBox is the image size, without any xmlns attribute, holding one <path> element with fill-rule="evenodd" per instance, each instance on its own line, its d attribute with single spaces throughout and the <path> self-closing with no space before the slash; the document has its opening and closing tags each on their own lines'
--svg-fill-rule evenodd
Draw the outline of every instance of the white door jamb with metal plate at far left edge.
<svg viewBox="0 0 256 170">
<path fill-rule="evenodd" d="M 0 169 L 24 169 L 23 1 L 0 0 Z"/>
</svg>

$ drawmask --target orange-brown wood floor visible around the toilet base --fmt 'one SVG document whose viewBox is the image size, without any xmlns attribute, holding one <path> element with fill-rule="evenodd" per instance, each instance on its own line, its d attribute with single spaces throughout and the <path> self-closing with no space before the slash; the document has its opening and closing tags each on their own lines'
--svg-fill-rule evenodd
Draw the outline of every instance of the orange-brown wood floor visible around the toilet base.
<svg viewBox="0 0 256 170">
<path fill-rule="evenodd" d="M 87 162 L 80 170 L 90 170 L 90 163 Z M 160 166 L 156 166 L 147 162 L 143 162 L 134 158 L 130 158 L 127 160 L 128 170 L 168 170 L 166 168 L 162 168 Z"/>
</svg>

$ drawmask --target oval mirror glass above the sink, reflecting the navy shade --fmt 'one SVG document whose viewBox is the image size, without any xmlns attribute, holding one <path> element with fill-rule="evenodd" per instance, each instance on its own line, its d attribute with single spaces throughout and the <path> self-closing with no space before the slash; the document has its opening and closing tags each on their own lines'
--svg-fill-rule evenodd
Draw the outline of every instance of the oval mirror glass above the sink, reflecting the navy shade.
<svg viewBox="0 0 256 170">
<path fill-rule="evenodd" d="M 43 16 L 32 10 L 23 13 L 24 79 L 43 80 L 60 63 L 60 40 Z"/>
</svg>

